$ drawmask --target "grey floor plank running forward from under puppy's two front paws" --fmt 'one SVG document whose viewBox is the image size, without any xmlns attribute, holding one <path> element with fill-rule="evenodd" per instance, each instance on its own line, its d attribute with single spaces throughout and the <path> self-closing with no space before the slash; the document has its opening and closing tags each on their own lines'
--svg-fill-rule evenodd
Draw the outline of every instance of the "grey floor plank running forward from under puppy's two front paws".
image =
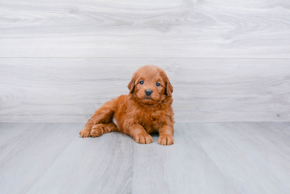
<svg viewBox="0 0 290 194">
<path fill-rule="evenodd" d="M 160 146 L 158 135 L 149 147 L 136 144 L 132 193 L 239 193 L 194 141 L 194 130 L 174 129 L 173 146 Z"/>
</svg>

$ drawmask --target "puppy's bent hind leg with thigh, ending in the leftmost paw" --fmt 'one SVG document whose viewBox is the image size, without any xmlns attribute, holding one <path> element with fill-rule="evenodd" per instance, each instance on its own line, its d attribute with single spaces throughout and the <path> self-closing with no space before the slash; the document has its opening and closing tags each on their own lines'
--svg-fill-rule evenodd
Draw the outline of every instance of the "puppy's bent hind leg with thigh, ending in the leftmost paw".
<svg viewBox="0 0 290 194">
<path fill-rule="evenodd" d="M 88 120 L 85 127 L 79 132 L 80 137 L 91 137 L 91 129 L 94 125 L 100 123 L 109 123 L 115 111 L 115 100 L 111 100 L 96 110 L 94 115 Z"/>
</svg>

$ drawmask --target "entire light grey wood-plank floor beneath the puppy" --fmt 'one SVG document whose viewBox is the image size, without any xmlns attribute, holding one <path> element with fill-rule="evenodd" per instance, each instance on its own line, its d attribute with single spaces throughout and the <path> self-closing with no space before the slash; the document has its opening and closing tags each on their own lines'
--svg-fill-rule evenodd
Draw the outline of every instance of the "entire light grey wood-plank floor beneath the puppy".
<svg viewBox="0 0 290 194">
<path fill-rule="evenodd" d="M 176 123 L 175 144 L 0 123 L 0 193 L 290 193 L 290 123 Z"/>
</svg>

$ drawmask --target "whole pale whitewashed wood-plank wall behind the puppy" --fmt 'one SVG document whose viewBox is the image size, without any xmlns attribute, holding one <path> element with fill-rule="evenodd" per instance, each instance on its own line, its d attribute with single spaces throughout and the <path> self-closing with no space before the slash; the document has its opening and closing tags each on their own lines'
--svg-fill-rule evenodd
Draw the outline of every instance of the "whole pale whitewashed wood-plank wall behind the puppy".
<svg viewBox="0 0 290 194">
<path fill-rule="evenodd" d="M 290 121 L 290 1 L 0 1 L 0 122 L 86 122 L 146 64 L 177 122 Z"/>
</svg>

